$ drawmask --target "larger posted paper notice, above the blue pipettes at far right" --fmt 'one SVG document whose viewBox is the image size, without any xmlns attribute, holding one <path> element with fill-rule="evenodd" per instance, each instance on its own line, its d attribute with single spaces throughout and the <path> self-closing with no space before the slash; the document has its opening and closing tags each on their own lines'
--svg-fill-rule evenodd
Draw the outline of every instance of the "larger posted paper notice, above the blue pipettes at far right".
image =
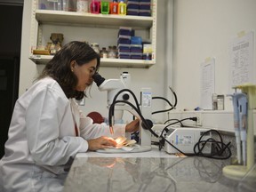
<svg viewBox="0 0 256 192">
<path fill-rule="evenodd" d="M 253 64 L 254 34 L 242 34 L 230 43 L 229 84 L 230 88 L 241 84 L 255 84 Z"/>
</svg>

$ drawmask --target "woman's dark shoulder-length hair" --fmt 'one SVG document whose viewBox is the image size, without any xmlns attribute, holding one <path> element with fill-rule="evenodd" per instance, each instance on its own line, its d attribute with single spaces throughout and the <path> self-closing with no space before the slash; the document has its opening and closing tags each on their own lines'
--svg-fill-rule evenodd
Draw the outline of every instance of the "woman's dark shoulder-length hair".
<svg viewBox="0 0 256 192">
<path fill-rule="evenodd" d="M 86 95 L 84 92 L 76 91 L 78 79 L 76 75 L 72 73 L 70 63 L 72 60 L 76 60 L 76 63 L 82 66 L 94 59 L 97 59 L 97 71 L 100 67 L 100 55 L 94 52 L 89 44 L 72 41 L 61 47 L 60 51 L 54 55 L 52 60 L 45 65 L 44 70 L 41 75 L 37 77 L 37 80 L 51 76 L 60 84 L 60 87 L 68 98 L 81 100 Z"/>
</svg>

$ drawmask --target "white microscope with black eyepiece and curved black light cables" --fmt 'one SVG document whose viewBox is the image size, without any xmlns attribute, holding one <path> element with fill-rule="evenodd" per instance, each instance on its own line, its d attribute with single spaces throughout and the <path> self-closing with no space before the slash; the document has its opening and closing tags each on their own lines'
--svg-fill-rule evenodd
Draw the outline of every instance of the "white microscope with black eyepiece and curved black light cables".
<svg viewBox="0 0 256 192">
<path fill-rule="evenodd" d="M 139 104 L 134 93 L 129 89 L 131 76 L 128 72 L 123 72 L 119 79 L 106 80 L 104 77 L 100 76 L 99 73 L 95 73 L 92 77 L 100 92 L 108 92 L 108 120 L 110 132 L 113 134 L 113 124 L 115 119 L 122 119 L 124 110 L 126 110 L 133 116 L 140 118 L 139 146 L 138 148 L 134 148 L 131 152 L 151 150 L 152 123 L 150 124 L 151 121 L 149 121 L 151 119 L 151 89 L 141 89 Z M 131 97 L 133 97 L 136 106 L 130 102 Z M 149 120 L 146 120 L 145 118 Z"/>
</svg>

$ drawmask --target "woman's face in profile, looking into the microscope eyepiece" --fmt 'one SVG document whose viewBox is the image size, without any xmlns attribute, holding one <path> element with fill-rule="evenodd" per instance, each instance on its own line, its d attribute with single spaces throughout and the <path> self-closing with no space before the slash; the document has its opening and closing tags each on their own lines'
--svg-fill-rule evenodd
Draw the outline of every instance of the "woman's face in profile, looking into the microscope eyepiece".
<svg viewBox="0 0 256 192">
<path fill-rule="evenodd" d="M 71 70 L 77 76 L 78 83 L 76 91 L 84 92 L 84 90 L 93 83 L 93 74 L 97 67 L 97 59 L 91 60 L 86 64 L 79 66 L 76 61 L 71 62 Z"/>
</svg>

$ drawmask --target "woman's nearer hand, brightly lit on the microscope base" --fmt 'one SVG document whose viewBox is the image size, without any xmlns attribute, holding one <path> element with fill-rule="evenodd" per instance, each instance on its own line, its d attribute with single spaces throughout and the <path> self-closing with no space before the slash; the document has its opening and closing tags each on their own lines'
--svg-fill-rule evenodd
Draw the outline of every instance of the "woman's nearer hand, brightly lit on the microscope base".
<svg viewBox="0 0 256 192">
<path fill-rule="evenodd" d="M 101 136 L 100 138 L 87 140 L 89 150 L 97 150 L 100 148 L 116 147 L 116 140 L 108 137 Z"/>
</svg>

